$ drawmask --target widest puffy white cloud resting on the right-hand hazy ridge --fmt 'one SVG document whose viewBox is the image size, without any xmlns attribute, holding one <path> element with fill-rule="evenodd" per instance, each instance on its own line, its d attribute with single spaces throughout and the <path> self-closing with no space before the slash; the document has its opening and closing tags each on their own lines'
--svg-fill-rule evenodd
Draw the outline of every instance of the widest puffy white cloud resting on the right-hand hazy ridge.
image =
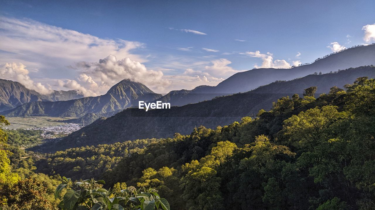
<svg viewBox="0 0 375 210">
<path fill-rule="evenodd" d="M 266 54 L 260 53 L 259 50 L 255 52 L 245 52 L 240 53 L 242 55 L 248 55 L 254 58 L 261 58 L 262 65 L 258 66 L 257 64 L 254 65 L 255 68 L 290 68 L 291 65 L 285 60 L 275 60 L 273 61 L 273 54 L 267 52 Z"/>
</svg>

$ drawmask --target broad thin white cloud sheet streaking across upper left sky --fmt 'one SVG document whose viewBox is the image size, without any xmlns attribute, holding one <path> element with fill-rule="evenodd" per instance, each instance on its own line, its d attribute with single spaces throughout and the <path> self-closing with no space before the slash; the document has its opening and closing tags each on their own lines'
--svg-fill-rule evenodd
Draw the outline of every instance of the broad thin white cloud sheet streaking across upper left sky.
<svg viewBox="0 0 375 210">
<path fill-rule="evenodd" d="M 129 57 L 139 62 L 143 56 L 130 53 L 144 44 L 122 39 L 104 39 L 78 31 L 43 24 L 31 19 L 0 17 L 0 64 L 20 62 L 33 75 L 74 77 L 77 72 L 67 69 L 75 62 L 94 62 L 108 55 Z M 34 74 L 34 70 L 39 70 Z"/>
</svg>

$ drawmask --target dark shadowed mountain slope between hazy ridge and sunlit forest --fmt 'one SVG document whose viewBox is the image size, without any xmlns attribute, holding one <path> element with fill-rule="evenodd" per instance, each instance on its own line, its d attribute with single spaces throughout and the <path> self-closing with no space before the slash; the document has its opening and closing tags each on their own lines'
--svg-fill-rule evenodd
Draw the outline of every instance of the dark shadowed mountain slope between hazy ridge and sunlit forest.
<svg viewBox="0 0 375 210">
<path fill-rule="evenodd" d="M 217 97 L 196 104 L 172 106 L 171 109 L 145 112 L 142 109 L 129 108 L 107 119 L 96 120 L 63 140 L 34 149 L 56 151 L 125 140 L 166 138 L 176 132 L 188 134 L 199 125 L 216 128 L 239 121 L 245 116 L 255 116 L 260 109 L 269 110 L 273 101 L 294 93 L 302 94 L 308 87 L 317 86 L 317 93 L 328 93 L 332 86 L 343 88 L 345 84 L 351 84 L 356 78 L 363 76 L 374 78 L 375 67 L 357 67 L 336 73 L 308 75 L 291 81 L 277 81 L 246 93 Z"/>
</svg>

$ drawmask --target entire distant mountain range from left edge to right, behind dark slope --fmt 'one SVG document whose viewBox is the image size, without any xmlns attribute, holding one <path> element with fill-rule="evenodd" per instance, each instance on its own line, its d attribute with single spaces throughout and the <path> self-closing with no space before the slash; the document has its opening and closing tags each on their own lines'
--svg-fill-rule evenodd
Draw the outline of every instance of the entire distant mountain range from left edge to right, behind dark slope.
<svg viewBox="0 0 375 210">
<path fill-rule="evenodd" d="M 328 73 L 340 69 L 375 64 L 375 45 L 354 47 L 318 59 L 312 64 L 290 69 L 260 68 L 239 72 L 217 86 L 198 86 L 193 90 L 174 90 L 162 96 L 141 83 L 123 80 L 105 95 L 82 98 L 77 91 L 55 91 L 45 96 L 28 90 L 17 82 L 0 81 L 0 114 L 7 117 L 56 116 L 78 117 L 69 120 L 91 123 L 110 117 L 124 108 L 137 106 L 138 101 L 169 102 L 183 106 L 213 99 L 217 96 L 247 92 L 278 80 L 292 80 L 314 72 Z M 74 100 L 70 100 L 74 99 Z M 51 102 L 53 101 L 53 102 Z M 133 103 L 132 103 L 133 102 Z M 68 122 L 68 121 L 67 121 Z"/>
</svg>

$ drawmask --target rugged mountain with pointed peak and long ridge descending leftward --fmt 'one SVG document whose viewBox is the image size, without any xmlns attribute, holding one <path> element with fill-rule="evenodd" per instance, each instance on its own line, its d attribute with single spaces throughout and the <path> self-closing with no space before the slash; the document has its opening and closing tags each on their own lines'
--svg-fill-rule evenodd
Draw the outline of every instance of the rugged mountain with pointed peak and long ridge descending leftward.
<svg viewBox="0 0 375 210">
<path fill-rule="evenodd" d="M 141 83 L 122 80 L 104 95 L 85 97 L 69 101 L 34 101 L 17 108 L 0 112 L 7 117 L 52 116 L 82 117 L 88 113 L 107 113 L 130 107 L 138 101 L 153 101 L 160 98 Z"/>
</svg>

